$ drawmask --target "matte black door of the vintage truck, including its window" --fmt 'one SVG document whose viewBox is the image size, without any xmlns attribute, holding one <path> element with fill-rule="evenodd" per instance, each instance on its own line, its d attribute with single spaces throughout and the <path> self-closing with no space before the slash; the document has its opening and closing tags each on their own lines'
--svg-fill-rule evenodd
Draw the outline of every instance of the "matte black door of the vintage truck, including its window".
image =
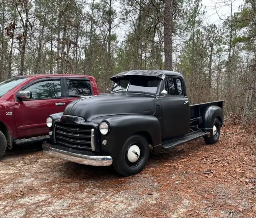
<svg viewBox="0 0 256 218">
<path fill-rule="evenodd" d="M 159 97 L 162 106 L 162 138 L 174 138 L 187 134 L 190 129 L 190 107 L 183 96 L 181 78 L 166 78 L 164 89 L 167 96 Z"/>
</svg>

